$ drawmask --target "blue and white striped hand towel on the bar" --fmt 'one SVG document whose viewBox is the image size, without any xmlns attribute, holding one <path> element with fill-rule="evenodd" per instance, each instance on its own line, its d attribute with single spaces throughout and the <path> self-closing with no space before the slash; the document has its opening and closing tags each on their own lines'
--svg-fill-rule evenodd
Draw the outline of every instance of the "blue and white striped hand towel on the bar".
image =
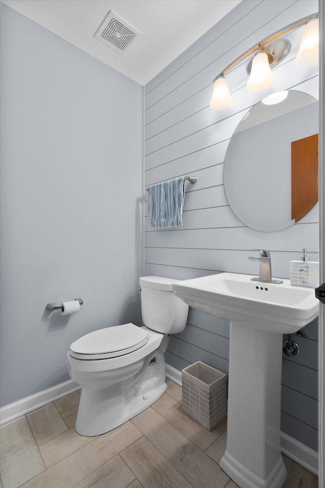
<svg viewBox="0 0 325 488">
<path fill-rule="evenodd" d="M 157 183 L 148 188 L 149 223 L 154 228 L 181 227 L 184 177 Z"/>
</svg>

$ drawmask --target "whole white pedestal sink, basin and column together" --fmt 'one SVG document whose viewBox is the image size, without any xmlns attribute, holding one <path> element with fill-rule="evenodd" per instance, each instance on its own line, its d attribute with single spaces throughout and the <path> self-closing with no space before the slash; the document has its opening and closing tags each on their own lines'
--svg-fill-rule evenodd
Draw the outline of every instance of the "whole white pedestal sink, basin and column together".
<svg viewBox="0 0 325 488">
<path fill-rule="evenodd" d="M 220 273 L 173 284 L 191 307 L 231 322 L 227 446 L 220 467 L 240 488 L 280 488 L 282 334 L 318 315 L 314 290 Z"/>
</svg>

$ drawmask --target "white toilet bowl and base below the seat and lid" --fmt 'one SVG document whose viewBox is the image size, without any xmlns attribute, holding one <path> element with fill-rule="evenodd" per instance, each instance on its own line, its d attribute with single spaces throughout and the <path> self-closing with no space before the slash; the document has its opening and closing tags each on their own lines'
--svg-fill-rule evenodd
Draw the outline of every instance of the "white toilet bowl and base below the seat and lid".
<svg viewBox="0 0 325 488">
<path fill-rule="evenodd" d="M 72 379 L 82 385 L 75 425 L 78 434 L 105 434 L 150 407 L 166 391 L 165 346 L 166 341 L 145 358 L 114 370 L 101 371 L 100 363 L 94 364 L 96 372 L 71 369 Z M 81 366 L 88 364 L 83 361 Z"/>
</svg>

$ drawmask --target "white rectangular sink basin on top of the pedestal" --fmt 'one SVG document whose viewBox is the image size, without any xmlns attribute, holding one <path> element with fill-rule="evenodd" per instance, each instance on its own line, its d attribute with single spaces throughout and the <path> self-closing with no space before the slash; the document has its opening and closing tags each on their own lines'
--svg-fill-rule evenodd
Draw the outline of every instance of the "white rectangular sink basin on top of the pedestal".
<svg viewBox="0 0 325 488">
<path fill-rule="evenodd" d="M 179 298 L 194 308 L 230 321 L 249 321 L 255 329 L 294 333 L 318 315 L 311 288 L 251 281 L 251 275 L 220 273 L 173 285 Z"/>
</svg>

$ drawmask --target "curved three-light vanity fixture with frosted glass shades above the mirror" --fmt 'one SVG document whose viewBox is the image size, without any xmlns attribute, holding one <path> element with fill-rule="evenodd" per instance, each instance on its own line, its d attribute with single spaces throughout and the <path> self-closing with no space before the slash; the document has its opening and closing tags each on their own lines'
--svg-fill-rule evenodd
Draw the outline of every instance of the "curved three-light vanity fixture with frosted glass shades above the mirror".
<svg viewBox="0 0 325 488">
<path fill-rule="evenodd" d="M 221 71 L 213 80 L 214 87 L 210 107 L 214 110 L 222 110 L 230 106 L 231 95 L 225 75 L 252 54 L 254 54 L 254 57 L 247 66 L 247 73 L 250 75 L 247 89 L 252 92 L 259 92 L 270 87 L 273 82 L 272 68 L 284 60 L 291 48 L 288 40 L 279 38 L 302 26 L 304 26 L 304 30 L 296 63 L 299 66 L 311 66 L 317 63 L 319 46 L 318 15 L 313 14 L 289 24 L 272 36 L 263 39 L 263 41 L 248 49 L 248 51 Z"/>
</svg>

